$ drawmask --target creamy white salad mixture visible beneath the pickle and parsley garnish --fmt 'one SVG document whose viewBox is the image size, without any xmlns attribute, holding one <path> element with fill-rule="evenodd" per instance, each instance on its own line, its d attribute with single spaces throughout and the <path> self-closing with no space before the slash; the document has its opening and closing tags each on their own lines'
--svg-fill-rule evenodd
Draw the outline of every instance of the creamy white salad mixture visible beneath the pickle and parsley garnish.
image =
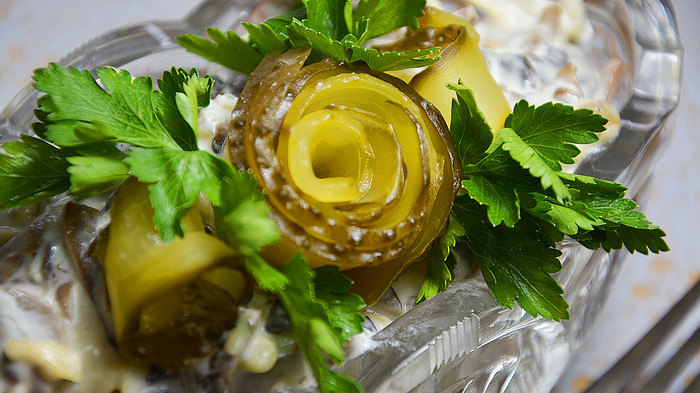
<svg viewBox="0 0 700 393">
<path fill-rule="evenodd" d="M 475 24 L 489 67 L 511 104 L 527 98 L 531 104 L 553 100 L 591 108 L 611 120 L 610 130 L 602 139 L 614 138 L 619 116 L 607 101 L 608 92 L 599 86 L 601 81 L 614 76 L 615 66 L 609 67 L 611 75 L 599 75 L 587 59 L 584 48 L 592 33 L 583 1 L 471 0 L 444 5 Z M 221 95 L 201 110 L 200 149 L 214 152 L 212 145 L 227 126 L 236 101 L 235 96 Z M 93 205 L 100 209 L 104 202 Z M 108 221 L 106 208 L 100 210 L 95 221 L 98 231 Z M 218 386 L 212 376 L 217 371 L 239 367 L 265 372 L 274 366 L 278 356 L 293 352 L 289 334 L 278 336 L 265 331 L 269 301 L 254 296 L 241 309 L 239 323 L 228 335 L 225 348 L 211 358 L 195 362 L 190 370 L 170 375 L 162 370 L 156 372 L 125 364 L 116 354 L 99 307 L 77 278 L 78 272 L 63 239 L 61 220 L 61 213 L 54 212 L 44 220 L 43 226 L 3 248 L 0 348 L 6 348 L 13 340 L 29 340 L 38 347 L 25 345 L 26 341 L 10 345 L 12 350 L 0 358 L 0 391 L 141 393 L 162 391 L 161 388 L 173 392 L 206 391 Z M 0 228 L 6 232 L 17 230 L 5 224 L 0 223 Z M 463 271 L 460 275 L 466 277 L 467 273 Z M 413 307 L 422 278 L 420 267 L 414 268 L 393 284 L 380 303 L 365 312 L 367 329 L 352 339 L 347 348 L 350 356 L 366 350 L 377 330 Z M 50 343 L 44 345 L 44 352 L 42 343 Z M 47 362 L 49 353 L 64 353 L 72 361 Z M 295 367 L 298 369 L 299 364 Z M 277 371 L 280 375 L 284 372 Z M 201 382 L 207 378 L 213 382 Z M 310 383 L 312 379 L 307 377 L 305 381 Z"/>
</svg>

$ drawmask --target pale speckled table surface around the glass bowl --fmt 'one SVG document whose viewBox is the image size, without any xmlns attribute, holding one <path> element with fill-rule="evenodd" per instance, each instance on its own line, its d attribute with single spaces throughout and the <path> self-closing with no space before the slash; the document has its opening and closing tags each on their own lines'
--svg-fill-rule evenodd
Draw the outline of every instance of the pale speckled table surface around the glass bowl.
<svg viewBox="0 0 700 393">
<path fill-rule="evenodd" d="M 673 137 L 643 206 L 647 216 L 666 230 L 672 250 L 626 259 L 606 306 L 556 392 L 585 389 L 700 278 L 695 250 L 700 235 L 700 176 L 694 173 L 700 154 L 700 24 L 696 23 L 700 6 L 697 0 L 673 3 L 685 46 L 682 100 Z M 143 20 L 176 19 L 195 4 L 193 0 L 0 1 L 0 108 L 29 83 L 32 69 L 61 58 L 87 38 Z M 682 333 L 686 337 L 694 329 L 687 325 Z M 674 345 L 684 341 L 682 334 Z M 696 356 L 671 391 L 681 391 L 698 371 Z"/>
</svg>

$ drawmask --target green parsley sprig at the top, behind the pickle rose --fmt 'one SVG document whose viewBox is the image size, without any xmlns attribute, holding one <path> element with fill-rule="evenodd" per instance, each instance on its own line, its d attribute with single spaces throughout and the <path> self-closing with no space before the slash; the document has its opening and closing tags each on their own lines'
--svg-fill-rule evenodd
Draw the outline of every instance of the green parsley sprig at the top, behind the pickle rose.
<svg viewBox="0 0 700 393">
<path fill-rule="evenodd" d="M 303 7 L 260 25 L 243 23 L 248 40 L 234 31 L 209 28 L 211 41 L 194 34 L 177 37 L 188 51 L 233 70 L 249 74 L 268 53 L 310 46 L 309 61 L 324 58 L 363 61 L 377 71 L 428 66 L 439 48 L 379 52 L 365 48 L 368 40 L 400 27 L 418 27 L 425 0 L 304 0 Z M 305 11 L 305 12 L 304 12 Z"/>
</svg>

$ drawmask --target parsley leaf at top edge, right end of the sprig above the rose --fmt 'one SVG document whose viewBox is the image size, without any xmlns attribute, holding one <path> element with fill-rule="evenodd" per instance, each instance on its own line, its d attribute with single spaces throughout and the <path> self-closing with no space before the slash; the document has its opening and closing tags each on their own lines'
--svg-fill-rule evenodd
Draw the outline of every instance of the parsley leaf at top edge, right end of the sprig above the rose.
<svg viewBox="0 0 700 393">
<path fill-rule="evenodd" d="M 415 30 L 423 8 L 425 0 L 360 0 L 352 15 L 352 33 L 364 43 L 403 26 Z"/>
</svg>

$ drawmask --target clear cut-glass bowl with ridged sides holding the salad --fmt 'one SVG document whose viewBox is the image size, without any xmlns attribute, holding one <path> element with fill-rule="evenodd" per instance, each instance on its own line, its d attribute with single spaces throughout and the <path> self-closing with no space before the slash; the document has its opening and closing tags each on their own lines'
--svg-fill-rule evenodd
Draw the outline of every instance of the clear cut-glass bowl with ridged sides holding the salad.
<svg viewBox="0 0 700 393">
<path fill-rule="evenodd" d="M 241 75 L 186 53 L 173 37 L 202 33 L 206 26 L 235 28 L 256 3 L 204 1 L 181 20 L 147 22 L 99 36 L 60 63 L 123 67 L 132 75 L 160 75 L 173 65 L 197 67 L 224 85 L 241 86 Z M 577 172 L 622 182 L 634 197 L 649 180 L 678 104 L 682 49 L 673 9 L 666 0 L 587 0 L 586 5 L 595 34 L 593 56 L 619 57 L 628 76 L 612 100 L 622 119 L 619 136 Z M 0 142 L 31 129 L 38 96 L 28 86 L 3 109 Z M 367 392 L 549 391 L 584 339 L 626 255 L 591 251 L 572 241 L 560 248 L 563 270 L 557 279 L 571 305 L 570 320 L 533 318 L 517 306 L 503 309 L 478 275 L 377 332 L 371 349 L 347 360 L 340 371 Z"/>
</svg>

